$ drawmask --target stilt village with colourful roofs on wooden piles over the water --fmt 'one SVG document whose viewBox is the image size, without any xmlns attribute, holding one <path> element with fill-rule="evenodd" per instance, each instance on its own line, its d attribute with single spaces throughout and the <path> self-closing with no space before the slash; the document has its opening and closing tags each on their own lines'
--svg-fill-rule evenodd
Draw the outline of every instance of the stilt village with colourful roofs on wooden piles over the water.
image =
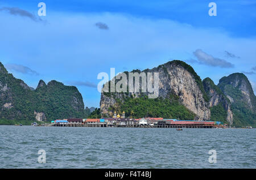
<svg viewBox="0 0 256 180">
<path fill-rule="evenodd" d="M 214 121 L 189 121 L 163 118 L 105 118 L 56 120 L 50 126 L 57 127 L 139 127 L 139 128 L 216 128 Z"/>
</svg>

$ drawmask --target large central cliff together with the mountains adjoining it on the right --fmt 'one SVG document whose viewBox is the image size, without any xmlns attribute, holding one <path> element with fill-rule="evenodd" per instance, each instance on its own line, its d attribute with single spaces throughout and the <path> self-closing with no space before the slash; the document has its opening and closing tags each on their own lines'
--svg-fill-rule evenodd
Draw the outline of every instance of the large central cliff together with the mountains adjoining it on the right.
<svg viewBox="0 0 256 180">
<path fill-rule="evenodd" d="M 114 111 L 125 111 L 126 116 L 135 118 L 213 120 L 236 127 L 256 127 L 256 97 L 242 73 L 224 76 L 215 85 L 210 78 L 202 81 L 191 66 L 178 60 L 131 72 L 159 72 L 159 97 L 150 99 L 144 92 L 102 92 L 100 107 L 106 117 Z"/>
</svg>

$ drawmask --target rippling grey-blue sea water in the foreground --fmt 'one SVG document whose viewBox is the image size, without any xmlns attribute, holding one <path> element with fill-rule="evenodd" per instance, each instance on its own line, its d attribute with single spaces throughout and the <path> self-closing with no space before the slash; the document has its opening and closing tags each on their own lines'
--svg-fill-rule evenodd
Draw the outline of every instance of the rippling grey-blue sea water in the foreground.
<svg viewBox="0 0 256 180">
<path fill-rule="evenodd" d="M 256 168 L 255 129 L 0 126 L 0 135 L 0 168 Z"/>
</svg>

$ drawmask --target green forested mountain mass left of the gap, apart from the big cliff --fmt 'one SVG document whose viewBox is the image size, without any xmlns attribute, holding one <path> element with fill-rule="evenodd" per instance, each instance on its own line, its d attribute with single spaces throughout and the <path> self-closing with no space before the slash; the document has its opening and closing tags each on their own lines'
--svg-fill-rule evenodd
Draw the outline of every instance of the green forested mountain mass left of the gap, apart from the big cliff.
<svg viewBox="0 0 256 180">
<path fill-rule="evenodd" d="M 0 63 L 0 119 L 49 121 L 86 115 L 89 114 L 76 87 L 40 80 L 38 87 L 31 89 Z"/>
</svg>

